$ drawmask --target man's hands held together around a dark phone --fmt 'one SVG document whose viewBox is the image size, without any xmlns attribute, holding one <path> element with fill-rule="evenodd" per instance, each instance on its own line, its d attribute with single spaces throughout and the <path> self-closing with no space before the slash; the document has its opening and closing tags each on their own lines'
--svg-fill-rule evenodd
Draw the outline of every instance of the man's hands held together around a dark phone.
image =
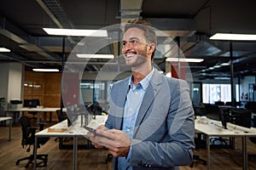
<svg viewBox="0 0 256 170">
<path fill-rule="evenodd" d="M 96 134 L 87 133 L 96 148 L 106 147 L 115 157 L 128 156 L 131 139 L 123 131 L 117 129 L 108 130 L 108 128 L 101 125 L 96 128 Z"/>
</svg>

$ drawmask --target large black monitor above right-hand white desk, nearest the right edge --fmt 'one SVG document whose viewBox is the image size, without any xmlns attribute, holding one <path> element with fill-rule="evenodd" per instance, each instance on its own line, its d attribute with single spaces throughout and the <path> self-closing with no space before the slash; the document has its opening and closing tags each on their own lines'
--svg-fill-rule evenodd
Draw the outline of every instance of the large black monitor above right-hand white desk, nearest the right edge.
<svg viewBox="0 0 256 170">
<path fill-rule="evenodd" d="M 241 127 L 252 126 L 252 111 L 247 109 L 232 109 L 230 111 L 230 122 Z"/>
</svg>

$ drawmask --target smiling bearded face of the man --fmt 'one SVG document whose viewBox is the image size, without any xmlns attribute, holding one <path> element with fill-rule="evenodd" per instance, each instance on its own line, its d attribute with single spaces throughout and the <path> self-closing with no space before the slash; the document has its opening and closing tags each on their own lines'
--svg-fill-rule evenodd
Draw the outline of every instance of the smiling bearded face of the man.
<svg viewBox="0 0 256 170">
<path fill-rule="evenodd" d="M 148 59 L 150 60 L 151 54 L 148 54 L 143 30 L 133 27 L 125 31 L 122 53 L 126 65 L 131 67 L 143 65 Z"/>
</svg>

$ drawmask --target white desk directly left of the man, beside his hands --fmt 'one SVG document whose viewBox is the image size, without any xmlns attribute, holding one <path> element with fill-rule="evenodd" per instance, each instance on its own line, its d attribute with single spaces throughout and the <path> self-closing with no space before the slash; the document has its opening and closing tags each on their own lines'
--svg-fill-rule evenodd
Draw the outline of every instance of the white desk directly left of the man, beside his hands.
<svg viewBox="0 0 256 170">
<path fill-rule="evenodd" d="M 97 124 L 102 125 L 105 124 L 107 121 L 108 116 L 96 116 L 96 120 L 92 119 L 89 124 Z M 67 129 L 65 132 L 62 133 L 49 133 L 48 129 Z M 78 151 L 78 138 L 84 137 L 86 133 L 88 132 L 84 127 L 81 127 L 81 121 L 77 121 L 76 123 L 73 123 L 71 127 L 67 127 L 67 120 L 63 122 L 59 122 L 49 128 L 45 128 L 43 131 L 36 133 L 36 139 L 35 139 L 35 150 L 34 150 L 34 165 L 33 169 L 36 169 L 37 165 L 37 143 L 38 138 L 44 138 L 44 137 L 60 137 L 60 138 L 73 138 L 73 170 L 77 170 L 77 151 Z"/>
</svg>

